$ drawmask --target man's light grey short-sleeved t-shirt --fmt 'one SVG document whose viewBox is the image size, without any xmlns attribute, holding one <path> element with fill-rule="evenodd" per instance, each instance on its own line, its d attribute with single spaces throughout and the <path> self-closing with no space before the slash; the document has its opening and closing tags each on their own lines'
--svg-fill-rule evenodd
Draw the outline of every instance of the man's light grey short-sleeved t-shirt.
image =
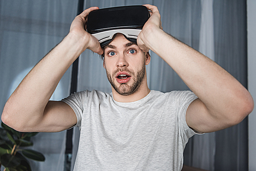
<svg viewBox="0 0 256 171">
<path fill-rule="evenodd" d="M 80 140 L 74 170 L 181 170 L 190 91 L 151 91 L 135 102 L 82 91 L 62 101 L 75 111 Z"/>
</svg>

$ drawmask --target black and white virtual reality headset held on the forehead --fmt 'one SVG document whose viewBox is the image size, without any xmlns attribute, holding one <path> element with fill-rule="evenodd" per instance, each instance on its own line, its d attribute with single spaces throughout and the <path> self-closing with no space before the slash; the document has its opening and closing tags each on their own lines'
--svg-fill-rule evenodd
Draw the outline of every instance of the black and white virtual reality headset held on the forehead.
<svg viewBox="0 0 256 171">
<path fill-rule="evenodd" d="M 87 32 L 100 42 L 108 45 L 116 33 L 122 33 L 130 41 L 137 41 L 150 12 L 145 6 L 123 6 L 95 10 L 89 13 Z"/>
</svg>

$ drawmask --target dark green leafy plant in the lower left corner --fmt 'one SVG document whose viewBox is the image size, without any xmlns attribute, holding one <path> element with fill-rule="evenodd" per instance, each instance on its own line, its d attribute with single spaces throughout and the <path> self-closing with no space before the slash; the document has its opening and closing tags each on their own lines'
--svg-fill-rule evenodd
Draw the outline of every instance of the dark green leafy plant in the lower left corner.
<svg viewBox="0 0 256 171">
<path fill-rule="evenodd" d="M 13 130 L 2 122 L 0 128 L 0 168 L 6 171 L 30 171 L 27 158 L 45 161 L 44 155 L 26 147 L 32 146 L 30 138 L 37 133 L 22 133 Z"/>
</svg>

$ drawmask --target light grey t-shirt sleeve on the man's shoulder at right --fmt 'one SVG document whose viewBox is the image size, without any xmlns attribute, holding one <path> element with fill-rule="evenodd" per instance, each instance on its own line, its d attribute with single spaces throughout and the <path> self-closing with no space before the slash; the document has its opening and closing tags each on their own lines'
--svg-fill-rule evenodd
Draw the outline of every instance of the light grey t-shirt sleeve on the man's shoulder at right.
<svg viewBox="0 0 256 171">
<path fill-rule="evenodd" d="M 190 129 L 186 122 L 186 111 L 191 102 L 198 97 L 191 91 L 177 91 L 175 92 L 175 103 L 178 113 L 178 124 L 180 133 L 183 134 L 185 141 L 195 134 L 200 134 Z M 185 142 L 186 143 L 186 142 Z"/>
</svg>

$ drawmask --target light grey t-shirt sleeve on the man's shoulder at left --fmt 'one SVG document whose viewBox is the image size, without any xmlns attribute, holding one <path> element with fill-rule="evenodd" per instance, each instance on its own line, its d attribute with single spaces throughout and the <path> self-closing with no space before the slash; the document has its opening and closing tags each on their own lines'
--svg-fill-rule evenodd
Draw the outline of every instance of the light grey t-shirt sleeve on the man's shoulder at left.
<svg viewBox="0 0 256 171">
<path fill-rule="evenodd" d="M 69 104 L 74 110 L 77 118 L 77 123 L 74 126 L 78 126 L 79 128 L 81 126 L 81 118 L 84 108 L 83 104 L 86 103 L 86 97 L 88 97 L 88 91 L 77 92 L 61 100 Z"/>
</svg>

